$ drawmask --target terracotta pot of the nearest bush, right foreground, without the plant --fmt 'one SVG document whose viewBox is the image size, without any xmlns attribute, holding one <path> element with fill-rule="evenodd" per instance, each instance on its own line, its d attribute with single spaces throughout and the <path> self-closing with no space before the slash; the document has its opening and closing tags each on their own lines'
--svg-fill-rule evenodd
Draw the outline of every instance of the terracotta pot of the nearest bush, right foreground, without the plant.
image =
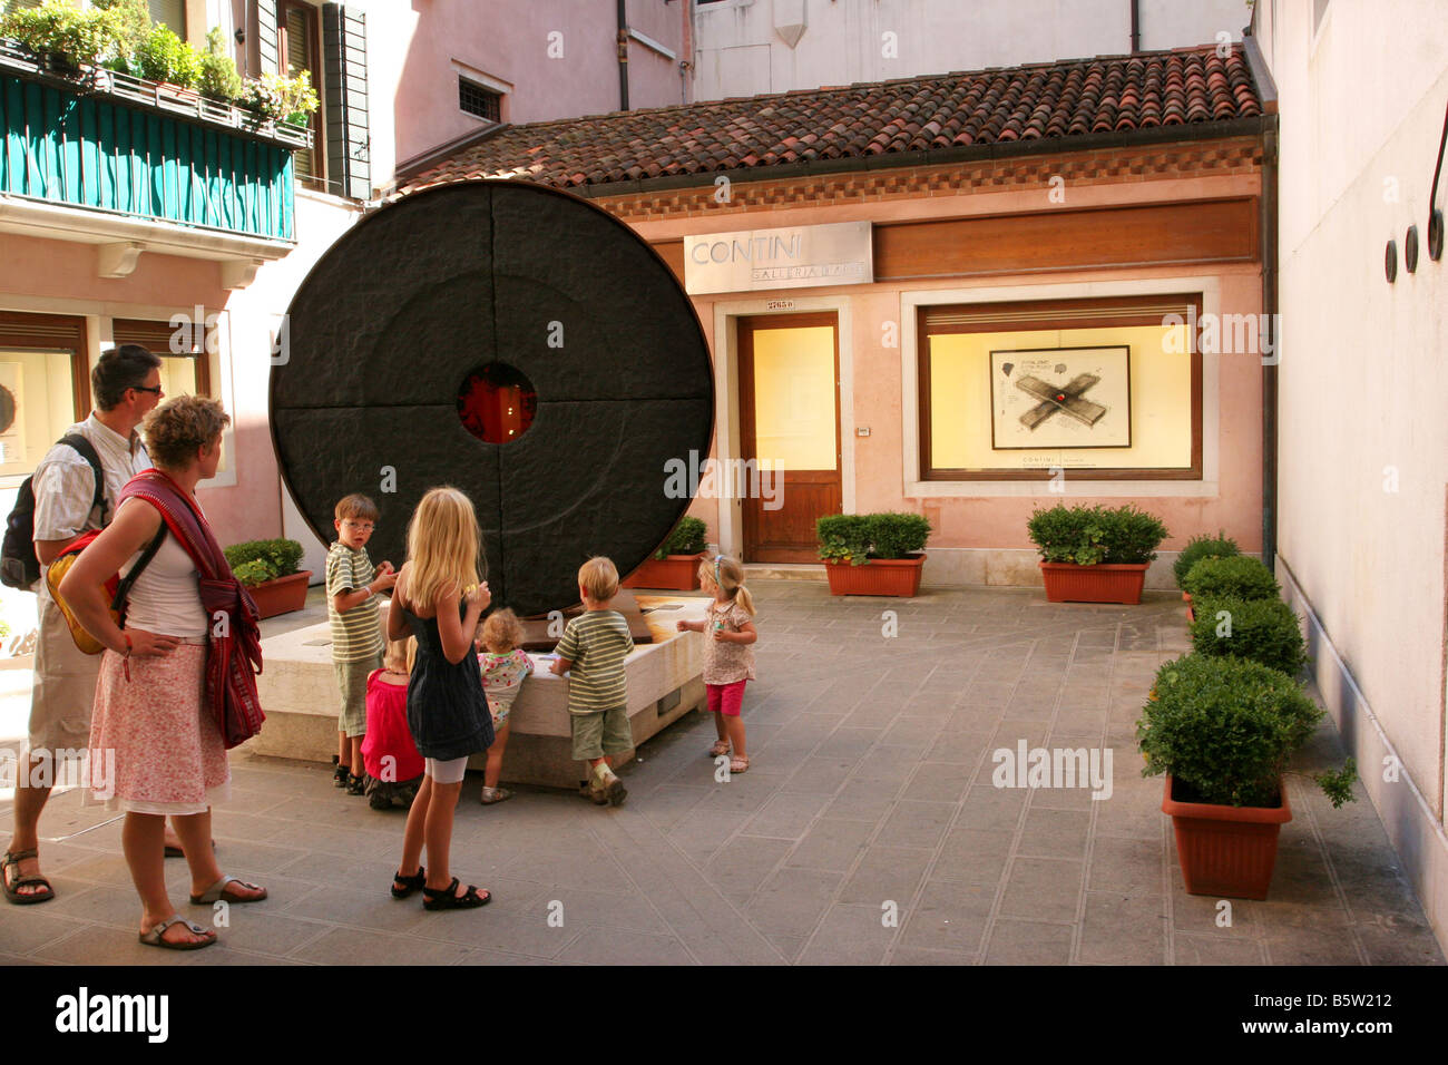
<svg viewBox="0 0 1448 1065">
<path fill-rule="evenodd" d="M 1189 895 L 1267 898 L 1277 836 L 1292 820 L 1287 787 L 1279 787 L 1280 807 L 1179 803 L 1171 797 L 1173 781 L 1167 777 L 1161 813 L 1171 817 Z"/>
</svg>

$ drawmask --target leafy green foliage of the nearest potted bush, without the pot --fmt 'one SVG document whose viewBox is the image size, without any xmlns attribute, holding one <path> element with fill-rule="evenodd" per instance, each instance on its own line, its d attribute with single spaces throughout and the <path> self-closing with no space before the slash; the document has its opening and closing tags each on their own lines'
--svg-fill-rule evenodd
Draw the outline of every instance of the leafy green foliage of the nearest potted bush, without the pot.
<svg viewBox="0 0 1448 1065">
<path fill-rule="evenodd" d="M 1186 655 L 1157 672 L 1137 722 L 1145 777 L 1170 774 L 1179 801 L 1280 804 L 1287 761 L 1312 736 L 1322 710 L 1286 674 L 1239 658 Z M 1352 798 L 1351 759 L 1319 774 L 1334 806 Z"/>
</svg>

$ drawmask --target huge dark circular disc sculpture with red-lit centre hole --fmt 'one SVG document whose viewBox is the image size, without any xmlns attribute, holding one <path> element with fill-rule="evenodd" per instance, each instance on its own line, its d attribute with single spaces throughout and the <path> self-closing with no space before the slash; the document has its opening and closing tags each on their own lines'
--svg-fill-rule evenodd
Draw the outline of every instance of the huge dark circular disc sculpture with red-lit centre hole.
<svg viewBox="0 0 1448 1065">
<path fill-rule="evenodd" d="M 365 493 L 382 510 L 368 552 L 401 567 L 423 493 L 452 484 L 494 604 L 520 614 L 576 603 L 589 555 L 643 562 L 689 504 L 669 459 L 696 469 L 714 427 L 708 345 L 663 259 L 520 181 L 362 219 L 297 290 L 272 362 L 272 440 L 313 532 L 334 540 L 337 500 Z"/>
</svg>

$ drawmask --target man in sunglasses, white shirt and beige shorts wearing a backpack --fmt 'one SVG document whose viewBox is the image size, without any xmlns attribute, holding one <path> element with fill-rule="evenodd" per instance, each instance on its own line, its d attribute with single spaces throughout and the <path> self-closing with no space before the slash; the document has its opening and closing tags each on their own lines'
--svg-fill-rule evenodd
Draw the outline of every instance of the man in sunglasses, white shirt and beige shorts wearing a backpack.
<svg viewBox="0 0 1448 1065">
<path fill-rule="evenodd" d="M 35 491 L 35 556 L 42 577 L 36 588 L 41 632 L 35 648 L 35 687 L 30 696 L 30 733 L 20 759 L 14 793 L 14 836 L 4 856 L 4 894 L 16 904 L 55 897 L 41 875 L 41 811 L 58 780 L 62 752 L 90 745 L 91 701 L 100 658 L 81 653 L 51 593 L 43 571 L 61 548 L 90 529 L 103 529 L 116 516 L 116 497 L 126 481 L 151 467 L 151 456 L 136 426 L 162 398 L 161 359 L 127 343 L 100 356 L 91 371 L 96 409 L 65 435 L 85 438 L 104 474 L 101 506 L 96 506 L 96 471 L 88 458 L 68 443 L 56 443 L 41 459 L 30 480 Z M 175 853 L 180 845 L 168 829 Z"/>
</svg>

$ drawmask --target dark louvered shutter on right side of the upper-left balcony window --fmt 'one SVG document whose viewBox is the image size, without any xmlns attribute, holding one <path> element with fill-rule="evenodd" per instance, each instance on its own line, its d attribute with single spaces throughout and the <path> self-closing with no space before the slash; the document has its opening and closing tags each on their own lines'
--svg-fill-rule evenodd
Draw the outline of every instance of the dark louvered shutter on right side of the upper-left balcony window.
<svg viewBox="0 0 1448 1065">
<path fill-rule="evenodd" d="M 327 175 L 332 190 L 353 200 L 372 194 L 368 139 L 366 14 L 356 4 L 323 4 L 321 67 L 326 81 Z"/>
</svg>

